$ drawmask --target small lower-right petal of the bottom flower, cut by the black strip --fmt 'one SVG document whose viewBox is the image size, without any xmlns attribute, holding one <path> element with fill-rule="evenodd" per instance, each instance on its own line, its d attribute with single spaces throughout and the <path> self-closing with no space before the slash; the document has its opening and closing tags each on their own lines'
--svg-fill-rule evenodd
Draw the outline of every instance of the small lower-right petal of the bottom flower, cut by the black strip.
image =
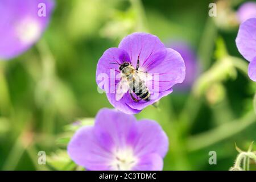
<svg viewBox="0 0 256 182">
<path fill-rule="evenodd" d="M 158 154 L 147 154 L 139 159 L 133 171 L 162 171 L 163 159 Z"/>
</svg>

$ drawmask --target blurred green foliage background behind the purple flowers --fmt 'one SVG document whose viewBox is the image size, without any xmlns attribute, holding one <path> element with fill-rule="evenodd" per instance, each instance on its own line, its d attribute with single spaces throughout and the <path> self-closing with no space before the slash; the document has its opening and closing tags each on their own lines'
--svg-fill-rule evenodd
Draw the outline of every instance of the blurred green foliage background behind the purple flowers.
<svg viewBox="0 0 256 182">
<path fill-rule="evenodd" d="M 174 87 L 158 108 L 138 119 L 158 121 L 170 140 L 164 170 L 228 170 L 256 140 L 254 93 L 247 61 L 237 50 L 236 10 L 245 1 L 59 0 L 42 38 L 30 50 L 0 62 L 0 169 L 82 169 L 65 147 L 80 125 L 102 107 L 96 65 L 109 47 L 135 31 L 157 35 L 167 46 L 187 43 L 200 73 L 191 87 Z M 231 57 L 232 56 L 232 57 Z M 73 122 L 77 122 L 73 125 Z M 254 150 L 255 146 L 254 146 Z M 47 165 L 38 164 L 45 151 Z M 209 152 L 217 164 L 210 165 Z M 256 164 L 251 162 L 251 169 Z"/>
</svg>

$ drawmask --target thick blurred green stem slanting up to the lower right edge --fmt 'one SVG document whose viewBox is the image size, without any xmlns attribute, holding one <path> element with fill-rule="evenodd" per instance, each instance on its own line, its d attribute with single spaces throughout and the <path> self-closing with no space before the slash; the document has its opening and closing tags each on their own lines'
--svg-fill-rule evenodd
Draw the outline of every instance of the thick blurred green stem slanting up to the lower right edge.
<svg viewBox="0 0 256 182">
<path fill-rule="evenodd" d="M 250 111 L 242 119 L 225 123 L 216 129 L 212 129 L 189 138 L 187 141 L 188 151 L 200 150 L 201 148 L 208 147 L 214 143 L 220 142 L 221 140 L 232 137 L 234 134 L 241 132 L 254 122 L 254 111 Z"/>
</svg>

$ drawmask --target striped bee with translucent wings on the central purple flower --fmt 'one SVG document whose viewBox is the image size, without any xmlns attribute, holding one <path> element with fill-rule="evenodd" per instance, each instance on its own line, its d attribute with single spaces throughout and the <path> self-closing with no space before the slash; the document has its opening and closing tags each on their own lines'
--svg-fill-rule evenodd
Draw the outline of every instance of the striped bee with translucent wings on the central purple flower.
<svg viewBox="0 0 256 182">
<path fill-rule="evenodd" d="M 129 91 L 131 98 L 135 101 L 149 101 L 150 90 L 146 86 L 146 81 L 151 79 L 151 76 L 146 72 L 138 71 L 139 56 L 137 60 L 137 67 L 134 68 L 131 63 L 125 61 L 119 65 L 121 72 L 121 81 L 117 85 L 115 93 L 115 100 L 119 101 L 127 91 Z M 137 98 L 134 97 L 134 94 Z M 139 100 L 139 99 L 140 100 Z"/>
</svg>

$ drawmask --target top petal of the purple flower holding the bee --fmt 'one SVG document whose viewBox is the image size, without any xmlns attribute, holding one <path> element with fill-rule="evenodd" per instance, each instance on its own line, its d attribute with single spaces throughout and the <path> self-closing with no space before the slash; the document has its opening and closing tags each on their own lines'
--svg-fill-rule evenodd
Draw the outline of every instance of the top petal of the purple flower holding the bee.
<svg viewBox="0 0 256 182">
<path fill-rule="evenodd" d="M 156 60 L 163 60 L 166 55 L 166 48 L 157 36 L 142 32 L 123 38 L 118 48 L 129 54 L 133 67 L 136 67 L 139 56 L 139 65 L 142 71 L 147 71 L 152 63 L 155 63 Z"/>
</svg>

